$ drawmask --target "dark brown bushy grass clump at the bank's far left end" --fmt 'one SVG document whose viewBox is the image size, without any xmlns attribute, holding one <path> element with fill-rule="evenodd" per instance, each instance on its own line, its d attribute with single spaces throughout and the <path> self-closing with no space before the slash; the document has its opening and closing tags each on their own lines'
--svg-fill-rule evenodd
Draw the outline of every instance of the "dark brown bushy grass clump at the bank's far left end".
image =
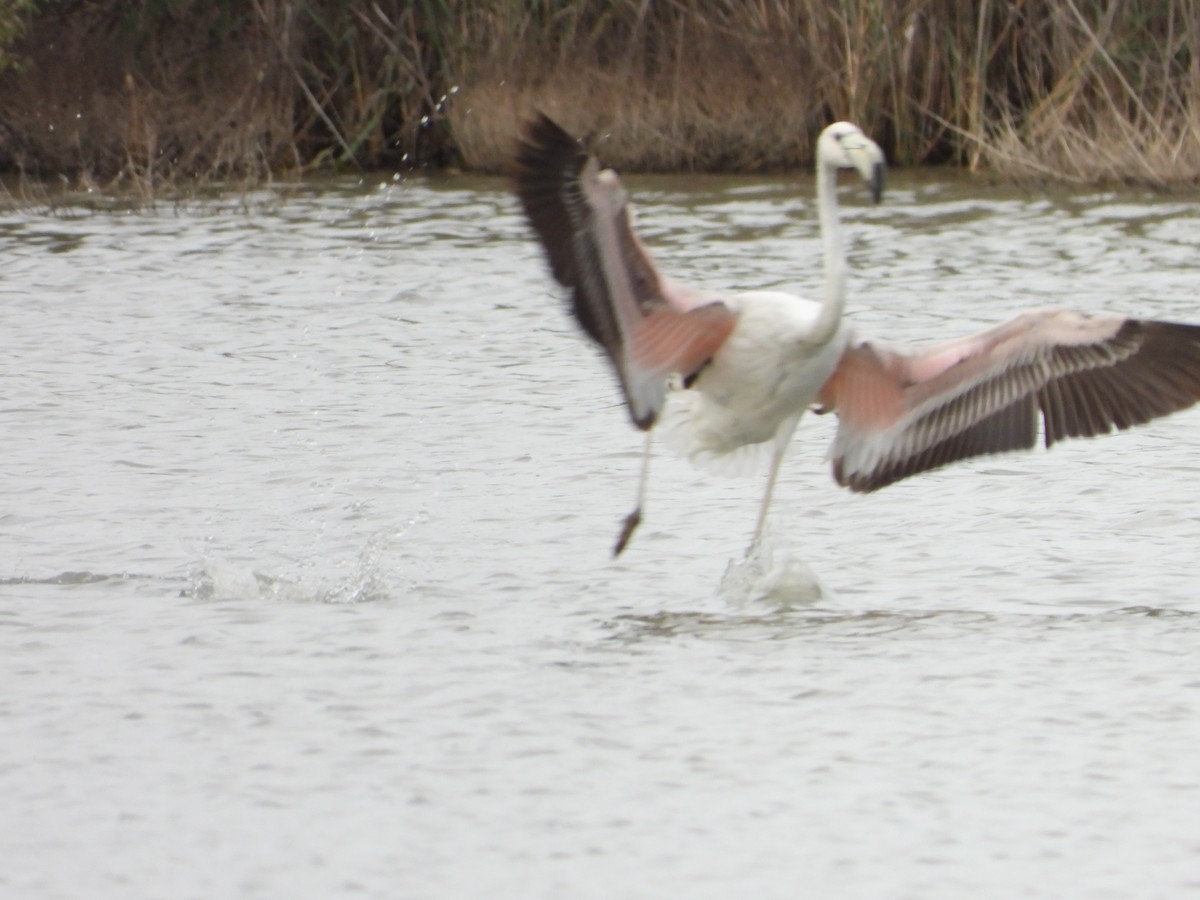
<svg viewBox="0 0 1200 900">
<path fill-rule="evenodd" d="M 163 17 L 154 42 L 131 41 L 134 25 L 95 4 L 37 22 L 26 64 L 0 91 L 0 163 L 152 191 L 180 176 L 262 176 L 295 158 L 290 97 L 263 30 L 208 55 L 196 44 L 224 26 L 217 7 Z"/>
</svg>

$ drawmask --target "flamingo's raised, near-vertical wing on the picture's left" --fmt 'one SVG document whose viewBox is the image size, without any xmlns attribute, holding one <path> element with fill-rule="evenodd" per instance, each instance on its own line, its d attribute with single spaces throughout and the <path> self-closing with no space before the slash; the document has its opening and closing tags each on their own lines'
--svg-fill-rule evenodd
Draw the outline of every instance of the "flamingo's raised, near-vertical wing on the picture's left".
<svg viewBox="0 0 1200 900">
<path fill-rule="evenodd" d="M 637 239 L 617 174 L 546 115 L 524 128 L 516 192 L 571 310 L 604 348 L 634 422 L 649 428 L 671 374 L 701 368 L 733 330 L 722 302 L 668 284 Z"/>
</svg>

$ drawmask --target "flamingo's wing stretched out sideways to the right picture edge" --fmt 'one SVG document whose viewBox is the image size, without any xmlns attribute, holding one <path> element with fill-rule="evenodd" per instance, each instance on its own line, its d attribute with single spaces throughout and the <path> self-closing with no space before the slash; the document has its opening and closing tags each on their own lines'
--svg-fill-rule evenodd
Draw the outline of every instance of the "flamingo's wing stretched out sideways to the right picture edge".
<svg viewBox="0 0 1200 900">
<path fill-rule="evenodd" d="M 1200 326 L 1061 310 L 924 352 L 862 343 L 822 389 L 839 485 L 875 491 L 955 460 L 1105 434 L 1200 400 Z"/>
</svg>

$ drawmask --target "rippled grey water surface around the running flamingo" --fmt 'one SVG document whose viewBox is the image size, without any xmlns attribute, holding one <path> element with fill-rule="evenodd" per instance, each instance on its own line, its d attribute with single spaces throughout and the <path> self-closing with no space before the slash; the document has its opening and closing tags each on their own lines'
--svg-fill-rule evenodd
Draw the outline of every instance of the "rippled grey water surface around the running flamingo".
<svg viewBox="0 0 1200 900">
<path fill-rule="evenodd" d="M 817 289 L 808 180 L 634 180 Z M 858 328 L 1200 322 L 1193 197 L 847 185 Z M 1180 896 L 1200 414 L 869 497 L 641 439 L 504 185 L 0 215 L 0 893 Z"/>
</svg>

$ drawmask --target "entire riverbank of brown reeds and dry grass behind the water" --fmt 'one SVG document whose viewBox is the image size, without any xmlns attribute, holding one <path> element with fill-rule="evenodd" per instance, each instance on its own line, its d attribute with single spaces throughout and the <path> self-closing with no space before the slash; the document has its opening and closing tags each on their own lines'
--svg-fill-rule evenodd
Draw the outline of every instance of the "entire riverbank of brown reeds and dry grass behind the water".
<svg viewBox="0 0 1200 900">
<path fill-rule="evenodd" d="M 0 170 L 498 172 L 540 108 L 630 170 L 806 167 L 842 118 L 894 166 L 1194 182 L 1198 6 L 0 0 Z"/>
</svg>

